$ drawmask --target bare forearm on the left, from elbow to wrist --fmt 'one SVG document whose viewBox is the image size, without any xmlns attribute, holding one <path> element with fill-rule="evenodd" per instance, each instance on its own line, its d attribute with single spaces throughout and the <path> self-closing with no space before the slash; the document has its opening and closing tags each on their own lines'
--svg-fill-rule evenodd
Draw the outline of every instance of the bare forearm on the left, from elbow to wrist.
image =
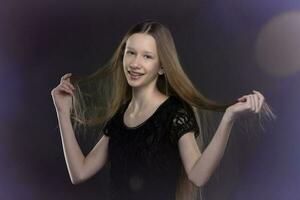
<svg viewBox="0 0 300 200">
<path fill-rule="evenodd" d="M 74 130 L 67 112 L 57 112 L 60 135 L 64 156 L 72 183 L 80 180 L 80 172 L 84 162 L 84 155 L 78 145 Z"/>
</svg>

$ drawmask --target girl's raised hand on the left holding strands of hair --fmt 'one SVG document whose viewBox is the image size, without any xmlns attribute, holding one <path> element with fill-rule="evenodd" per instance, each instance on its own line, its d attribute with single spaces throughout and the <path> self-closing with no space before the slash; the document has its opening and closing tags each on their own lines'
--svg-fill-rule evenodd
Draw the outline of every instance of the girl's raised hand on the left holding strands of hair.
<svg viewBox="0 0 300 200">
<path fill-rule="evenodd" d="M 70 83 L 71 73 L 60 79 L 60 84 L 51 91 L 54 106 L 57 112 L 69 113 L 72 107 L 72 96 L 75 87 Z"/>
</svg>

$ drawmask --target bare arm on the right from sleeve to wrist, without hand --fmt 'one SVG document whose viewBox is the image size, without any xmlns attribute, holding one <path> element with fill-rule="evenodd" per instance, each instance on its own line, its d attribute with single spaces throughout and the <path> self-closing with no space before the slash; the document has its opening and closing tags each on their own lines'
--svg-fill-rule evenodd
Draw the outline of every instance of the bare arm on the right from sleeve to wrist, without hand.
<svg viewBox="0 0 300 200">
<path fill-rule="evenodd" d="M 187 133 L 179 139 L 179 152 L 185 171 L 189 180 L 196 186 L 203 186 L 218 166 L 233 124 L 234 120 L 225 113 L 214 137 L 202 154 L 193 132 Z"/>
</svg>

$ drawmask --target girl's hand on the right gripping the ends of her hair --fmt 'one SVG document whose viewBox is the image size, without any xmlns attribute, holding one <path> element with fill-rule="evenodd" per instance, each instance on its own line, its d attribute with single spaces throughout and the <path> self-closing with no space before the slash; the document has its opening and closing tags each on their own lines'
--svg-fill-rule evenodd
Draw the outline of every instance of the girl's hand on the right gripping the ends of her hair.
<svg viewBox="0 0 300 200">
<path fill-rule="evenodd" d="M 265 97 L 260 92 L 253 90 L 253 94 L 238 98 L 237 103 L 229 106 L 225 114 L 231 119 L 236 119 L 241 114 L 259 113 L 264 101 Z"/>
</svg>

